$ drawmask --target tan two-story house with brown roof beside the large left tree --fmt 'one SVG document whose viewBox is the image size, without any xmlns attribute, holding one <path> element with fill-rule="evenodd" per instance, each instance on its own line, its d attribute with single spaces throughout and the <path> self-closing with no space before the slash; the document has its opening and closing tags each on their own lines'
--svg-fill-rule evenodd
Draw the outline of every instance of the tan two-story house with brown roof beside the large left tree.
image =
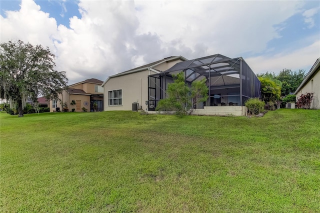
<svg viewBox="0 0 320 213">
<path fill-rule="evenodd" d="M 103 89 L 102 80 L 90 78 L 78 83 L 67 86 L 59 95 L 59 99 L 50 100 L 50 112 L 62 111 L 61 103 L 66 103 L 69 111 L 75 108 L 75 111 L 82 111 L 82 107 L 87 111 L 103 110 Z M 71 105 L 71 101 L 75 101 L 75 105 Z M 96 103 L 96 109 L 94 109 Z"/>
</svg>

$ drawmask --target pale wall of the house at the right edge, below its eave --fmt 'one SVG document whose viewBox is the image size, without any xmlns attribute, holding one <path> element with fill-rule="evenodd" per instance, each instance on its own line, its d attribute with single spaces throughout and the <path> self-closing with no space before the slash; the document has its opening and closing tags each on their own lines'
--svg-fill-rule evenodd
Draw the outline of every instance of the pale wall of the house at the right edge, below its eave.
<svg viewBox="0 0 320 213">
<path fill-rule="evenodd" d="M 296 99 L 301 94 L 313 92 L 313 100 L 310 108 L 320 109 L 320 71 L 317 72 L 308 80 L 308 82 L 297 92 Z"/>
</svg>

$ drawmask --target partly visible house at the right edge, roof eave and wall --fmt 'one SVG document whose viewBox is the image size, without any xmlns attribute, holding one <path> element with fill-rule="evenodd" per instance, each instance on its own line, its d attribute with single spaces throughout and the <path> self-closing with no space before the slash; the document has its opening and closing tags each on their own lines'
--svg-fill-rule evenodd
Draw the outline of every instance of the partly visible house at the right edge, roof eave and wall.
<svg viewBox="0 0 320 213">
<path fill-rule="evenodd" d="M 296 99 L 301 94 L 306 92 L 313 92 L 313 99 L 310 108 L 320 109 L 320 57 L 316 59 L 315 63 L 306 74 L 301 84 L 295 90 Z"/>
</svg>

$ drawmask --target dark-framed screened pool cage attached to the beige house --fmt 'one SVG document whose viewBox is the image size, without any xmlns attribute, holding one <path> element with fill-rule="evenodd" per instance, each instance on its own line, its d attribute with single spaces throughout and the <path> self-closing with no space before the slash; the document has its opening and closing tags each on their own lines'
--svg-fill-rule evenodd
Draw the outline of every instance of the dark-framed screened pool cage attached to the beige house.
<svg viewBox="0 0 320 213">
<path fill-rule="evenodd" d="M 260 81 L 242 57 L 229 58 L 221 54 L 176 63 L 171 68 L 148 76 L 148 110 L 166 97 L 173 82 L 172 74 L 183 72 L 187 85 L 206 78 L 208 99 L 194 106 L 243 106 L 250 97 L 260 96 Z"/>
</svg>

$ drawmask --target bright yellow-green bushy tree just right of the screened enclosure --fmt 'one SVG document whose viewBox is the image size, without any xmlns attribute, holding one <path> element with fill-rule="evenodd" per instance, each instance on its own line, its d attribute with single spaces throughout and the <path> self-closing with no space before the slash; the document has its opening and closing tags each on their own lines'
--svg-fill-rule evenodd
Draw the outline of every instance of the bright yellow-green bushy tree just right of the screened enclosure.
<svg viewBox="0 0 320 213">
<path fill-rule="evenodd" d="M 269 78 L 258 78 L 261 82 L 261 99 L 265 103 L 265 109 L 274 110 L 273 105 L 278 104 L 281 98 L 281 87 Z"/>
</svg>

